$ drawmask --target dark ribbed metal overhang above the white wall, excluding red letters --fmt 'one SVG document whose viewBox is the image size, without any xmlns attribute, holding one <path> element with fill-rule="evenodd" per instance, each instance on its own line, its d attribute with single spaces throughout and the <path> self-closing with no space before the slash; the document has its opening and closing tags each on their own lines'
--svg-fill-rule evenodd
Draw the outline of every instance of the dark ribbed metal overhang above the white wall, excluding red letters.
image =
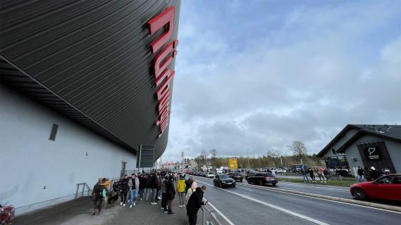
<svg viewBox="0 0 401 225">
<path fill-rule="evenodd" d="M 147 22 L 169 6 L 173 40 L 180 0 L 2 1 L 1 83 L 134 153 L 153 144 L 157 159 L 168 128 L 158 138 L 150 44 L 166 27 L 150 35 Z"/>
</svg>

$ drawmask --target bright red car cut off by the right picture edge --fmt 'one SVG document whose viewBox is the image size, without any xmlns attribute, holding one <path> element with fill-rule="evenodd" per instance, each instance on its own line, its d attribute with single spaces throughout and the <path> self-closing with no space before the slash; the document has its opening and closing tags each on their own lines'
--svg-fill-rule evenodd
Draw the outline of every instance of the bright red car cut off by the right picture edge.
<svg viewBox="0 0 401 225">
<path fill-rule="evenodd" d="M 388 174 L 374 181 L 350 186 L 351 195 L 358 199 L 377 198 L 401 201 L 401 174 Z"/>
</svg>

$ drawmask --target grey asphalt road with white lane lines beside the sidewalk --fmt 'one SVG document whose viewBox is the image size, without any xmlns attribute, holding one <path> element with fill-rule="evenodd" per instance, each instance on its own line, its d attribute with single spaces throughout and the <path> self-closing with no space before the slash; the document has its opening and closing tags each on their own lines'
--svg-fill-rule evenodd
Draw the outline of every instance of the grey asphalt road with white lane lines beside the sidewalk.
<svg viewBox="0 0 401 225">
<path fill-rule="evenodd" d="M 400 224 L 401 213 L 237 184 L 218 188 L 195 176 L 204 195 L 233 224 Z M 281 186 L 281 184 L 280 184 Z M 285 186 L 285 185 L 284 185 Z M 331 191 L 331 190 L 327 190 Z"/>
</svg>

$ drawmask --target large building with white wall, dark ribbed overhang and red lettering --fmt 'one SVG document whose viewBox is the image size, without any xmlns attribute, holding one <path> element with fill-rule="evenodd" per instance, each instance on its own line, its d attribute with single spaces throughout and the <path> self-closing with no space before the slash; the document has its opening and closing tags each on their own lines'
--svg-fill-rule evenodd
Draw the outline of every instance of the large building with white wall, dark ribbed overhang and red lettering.
<svg viewBox="0 0 401 225">
<path fill-rule="evenodd" d="M 180 1 L 1 1 L 0 203 L 75 198 L 166 149 Z"/>
</svg>

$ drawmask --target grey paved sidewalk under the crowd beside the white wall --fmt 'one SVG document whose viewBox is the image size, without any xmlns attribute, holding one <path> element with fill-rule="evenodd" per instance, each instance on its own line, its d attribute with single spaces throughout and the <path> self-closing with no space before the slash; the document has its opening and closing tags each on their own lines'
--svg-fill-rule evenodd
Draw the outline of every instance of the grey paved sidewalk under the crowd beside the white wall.
<svg viewBox="0 0 401 225">
<path fill-rule="evenodd" d="M 44 210 L 38 210 L 28 214 L 23 214 L 13 221 L 16 225 L 51 225 L 51 224 L 82 224 L 82 225 L 101 225 L 101 224 L 183 224 L 187 223 L 185 207 L 178 207 L 178 195 L 174 200 L 173 212 L 167 214 L 161 210 L 161 200 L 157 205 L 149 202 L 138 201 L 135 207 L 119 205 L 107 209 L 104 207 L 99 216 L 92 216 L 92 200 L 89 197 L 81 197 L 67 203 L 61 203 Z M 205 218 L 217 224 L 210 212 L 205 210 Z M 197 224 L 202 224 L 202 210 L 198 212 Z"/>
</svg>

